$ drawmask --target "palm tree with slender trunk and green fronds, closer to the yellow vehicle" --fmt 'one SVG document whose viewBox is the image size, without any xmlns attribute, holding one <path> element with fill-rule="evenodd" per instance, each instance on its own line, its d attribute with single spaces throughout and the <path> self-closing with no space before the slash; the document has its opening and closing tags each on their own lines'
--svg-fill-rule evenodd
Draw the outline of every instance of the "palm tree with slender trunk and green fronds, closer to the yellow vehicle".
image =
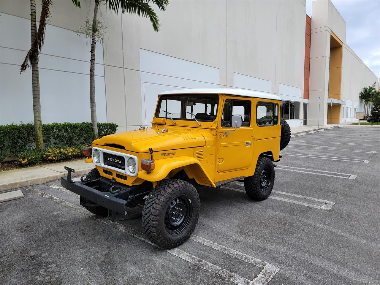
<svg viewBox="0 0 380 285">
<path fill-rule="evenodd" d="M 74 5 L 80 6 L 80 0 L 72 0 Z M 91 124 L 94 133 L 94 139 L 98 139 L 98 122 L 96 116 L 95 104 L 95 47 L 97 36 L 97 14 L 99 3 L 108 4 L 111 12 L 117 13 L 120 9 L 121 13 L 138 14 L 139 16 L 149 18 L 153 29 L 158 32 L 160 29 L 160 20 L 150 3 L 156 5 L 161 11 L 165 11 L 169 4 L 168 0 L 95 0 L 94 16 L 92 19 L 92 37 L 91 37 L 91 57 L 90 57 L 90 109 L 91 109 Z"/>
</svg>

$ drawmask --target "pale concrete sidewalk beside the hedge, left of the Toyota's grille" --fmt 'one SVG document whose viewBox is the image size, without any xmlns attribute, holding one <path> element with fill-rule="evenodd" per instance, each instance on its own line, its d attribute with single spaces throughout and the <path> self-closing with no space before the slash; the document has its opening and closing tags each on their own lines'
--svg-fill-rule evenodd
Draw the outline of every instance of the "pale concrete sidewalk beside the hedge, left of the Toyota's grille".
<svg viewBox="0 0 380 285">
<path fill-rule="evenodd" d="M 0 192 L 58 180 L 66 175 L 65 166 L 75 169 L 73 176 L 87 174 L 95 167 L 83 159 L 1 171 Z"/>
</svg>

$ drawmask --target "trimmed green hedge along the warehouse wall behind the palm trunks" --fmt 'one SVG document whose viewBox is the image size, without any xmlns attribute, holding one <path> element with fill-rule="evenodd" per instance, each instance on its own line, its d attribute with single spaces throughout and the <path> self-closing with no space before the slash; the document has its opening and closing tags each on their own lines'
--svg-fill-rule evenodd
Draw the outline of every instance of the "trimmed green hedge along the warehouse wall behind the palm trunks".
<svg viewBox="0 0 380 285">
<path fill-rule="evenodd" d="M 99 138 L 116 133 L 116 123 L 98 123 Z M 42 125 L 45 146 L 78 146 L 91 144 L 92 125 L 83 123 L 51 123 Z M 0 125 L 0 161 L 17 157 L 21 152 L 34 148 L 34 125 Z"/>
</svg>

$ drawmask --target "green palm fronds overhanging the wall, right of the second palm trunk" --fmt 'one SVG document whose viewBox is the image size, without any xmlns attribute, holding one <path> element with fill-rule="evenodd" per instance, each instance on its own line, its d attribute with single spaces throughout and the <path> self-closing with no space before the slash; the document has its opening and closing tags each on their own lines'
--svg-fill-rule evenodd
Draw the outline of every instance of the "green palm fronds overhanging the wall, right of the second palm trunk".
<svg viewBox="0 0 380 285">
<path fill-rule="evenodd" d="M 120 8 L 122 13 L 138 14 L 138 16 L 149 18 L 156 32 L 160 29 L 160 20 L 149 3 L 154 3 L 163 11 L 169 4 L 168 0 L 108 0 L 107 2 L 111 12 L 117 13 Z"/>
</svg>

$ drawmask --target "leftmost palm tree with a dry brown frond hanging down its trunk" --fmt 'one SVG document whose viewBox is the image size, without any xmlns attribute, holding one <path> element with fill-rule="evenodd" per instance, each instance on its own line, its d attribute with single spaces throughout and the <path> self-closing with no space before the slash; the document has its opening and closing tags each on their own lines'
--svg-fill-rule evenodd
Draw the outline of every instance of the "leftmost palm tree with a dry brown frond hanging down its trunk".
<svg viewBox="0 0 380 285">
<path fill-rule="evenodd" d="M 20 73 L 32 66 L 32 94 L 33 94 L 33 117 L 36 149 L 42 149 L 42 119 L 41 119 L 41 102 L 40 102 L 40 74 L 38 73 L 38 57 L 44 44 L 45 30 L 47 21 L 50 17 L 50 6 L 52 0 L 42 0 L 42 10 L 40 16 L 40 25 L 37 31 L 36 23 L 36 1 L 30 0 L 30 31 L 32 37 L 32 46 L 28 51 L 24 62 L 20 67 Z"/>
</svg>

